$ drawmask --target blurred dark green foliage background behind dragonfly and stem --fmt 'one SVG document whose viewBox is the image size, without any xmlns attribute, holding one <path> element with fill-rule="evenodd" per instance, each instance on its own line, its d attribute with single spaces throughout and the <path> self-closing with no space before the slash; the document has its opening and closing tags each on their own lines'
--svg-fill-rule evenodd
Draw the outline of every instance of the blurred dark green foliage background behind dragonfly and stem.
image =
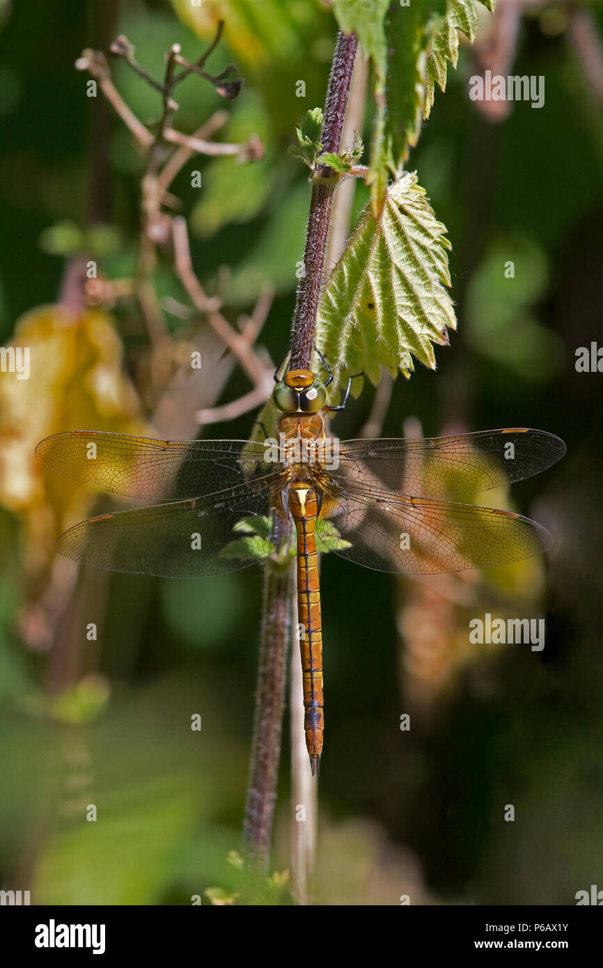
<svg viewBox="0 0 603 968">
<path fill-rule="evenodd" d="M 221 58 L 223 66 L 236 59 L 248 81 L 229 108 L 225 137 L 256 132 L 264 160 L 201 160 L 201 193 L 186 173 L 174 185 L 192 212 L 201 279 L 211 287 L 219 266 L 231 266 L 233 312 L 249 309 L 265 280 L 274 283 L 262 340 L 275 359 L 288 338 L 309 200 L 307 171 L 286 145 L 300 115 L 322 103 L 335 36 L 323 5 L 277 6 L 278 18 L 259 15 L 263 0 L 233 4 L 239 49 L 216 55 L 217 68 Z M 22 313 L 56 299 L 63 268 L 56 253 L 71 244 L 59 224 L 84 224 L 91 180 L 113 232 L 104 269 L 125 274 L 136 256 L 139 159 L 111 117 L 106 165 L 93 164 L 103 150 L 94 135 L 97 106 L 84 96 L 75 58 L 100 45 L 103 31 L 123 32 L 140 62 L 160 72 L 168 45 L 178 41 L 193 57 L 200 42 L 161 0 L 61 0 L 51 15 L 43 0 L 0 9 L 6 342 Z M 600 6 L 592 10 L 600 26 Z M 418 171 L 452 243 L 459 329 L 449 348 L 437 348 L 437 373 L 417 365 L 411 379 L 398 380 L 383 436 L 402 436 L 405 418 L 416 416 L 426 436 L 533 426 L 567 441 L 561 465 L 514 489 L 518 508 L 557 538 L 544 598 L 547 645 L 540 653 L 486 647 L 401 733 L 410 706 L 396 614 L 406 592 L 390 576 L 325 557 L 328 733 L 317 892 L 326 903 L 397 904 L 414 885 L 419 903 L 571 904 L 576 891 L 600 884 L 603 398 L 601 375 L 577 374 L 574 358 L 576 348 L 601 339 L 603 123 L 565 32 L 548 27 L 554 18 L 544 14 L 523 20 L 513 73 L 546 77 L 545 106 L 518 104 L 503 124 L 486 121 L 467 98 L 474 71 L 462 47 L 410 153 L 407 168 Z M 247 40 L 254 36 L 257 55 Z M 123 66 L 115 76 L 141 118 L 157 116 L 152 91 Z M 304 99 L 294 93 L 300 78 Z M 195 78 L 178 100 L 190 130 L 222 106 Z M 416 121 L 412 106 L 409 118 Z M 364 136 L 370 143 L 369 127 Z M 358 185 L 355 212 L 369 200 Z M 512 283 L 503 274 L 507 260 L 515 262 Z M 162 290 L 181 298 L 166 267 L 162 273 Z M 127 325 L 122 337 L 136 355 L 140 337 Z M 224 399 L 247 389 L 235 371 Z M 357 432 L 374 392 L 367 386 L 338 417 L 341 437 Z M 210 433 L 244 438 L 250 424 L 243 417 Z M 69 715 L 47 714 L 45 656 L 26 652 L 15 632 L 22 543 L 8 510 L 0 512 L 0 534 L 0 881 L 31 888 L 35 901 L 75 904 L 186 904 L 214 886 L 241 890 L 236 865 L 225 859 L 240 843 L 258 570 L 206 582 L 115 576 L 101 658 L 110 700 L 94 685 L 90 696 L 76 696 L 77 709 L 89 703 L 102 711 L 73 727 Z M 533 607 L 521 601 L 518 615 Z M 482 602 L 474 614 L 486 610 Z M 191 733 L 192 712 L 203 716 L 200 734 Z M 90 757 L 83 765 L 82 744 Z M 65 810 L 77 775 L 88 777 L 84 795 L 98 805 L 96 824 Z M 285 750 L 278 870 L 288 864 L 288 797 Z M 506 803 L 515 804 L 514 824 L 502 822 Z"/>
</svg>

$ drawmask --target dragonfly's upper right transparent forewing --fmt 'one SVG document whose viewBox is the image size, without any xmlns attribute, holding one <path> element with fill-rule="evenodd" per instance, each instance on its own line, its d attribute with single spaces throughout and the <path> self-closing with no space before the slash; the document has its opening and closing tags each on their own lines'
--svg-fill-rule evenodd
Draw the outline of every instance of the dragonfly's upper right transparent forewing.
<svg viewBox="0 0 603 968">
<path fill-rule="evenodd" d="M 329 473 L 354 489 L 471 500 L 550 468 L 564 453 L 555 435 L 522 428 L 421 440 L 344 440 L 340 467 Z"/>
</svg>

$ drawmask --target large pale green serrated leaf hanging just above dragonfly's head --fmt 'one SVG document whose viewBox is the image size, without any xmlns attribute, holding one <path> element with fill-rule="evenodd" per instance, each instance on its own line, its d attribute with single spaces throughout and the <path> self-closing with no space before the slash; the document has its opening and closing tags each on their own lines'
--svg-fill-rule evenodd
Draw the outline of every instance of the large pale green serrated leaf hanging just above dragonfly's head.
<svg viewBox="0 0 603 968">
<path fill-rule="evenodd" d="M 318 307 L 317 346 L 334 387 L 363 371 L 377 384 L 381 366 L 409 377 L 413 359 L 436 368 L 434 344 L 447 346 L 456 328 L 445 233 L 415 172 L 390 187 L 378 219 L 365 209 Z"/>
</svg>

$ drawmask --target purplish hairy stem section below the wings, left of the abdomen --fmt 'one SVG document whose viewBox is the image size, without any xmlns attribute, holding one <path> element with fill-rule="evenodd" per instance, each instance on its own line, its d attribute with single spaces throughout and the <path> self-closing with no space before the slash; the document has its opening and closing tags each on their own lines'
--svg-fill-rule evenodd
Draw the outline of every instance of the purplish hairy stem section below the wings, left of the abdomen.
<svg viewBox="0 0 603 968">
<path fill-rule="evenodd" d="M 245 854 L 256 873 L 262 874 L 268 870 L 277 799 L 292 594 L 293 569 L 268 561 L 264 566 L 256 713 L 243 824 Z"/>
</svg>

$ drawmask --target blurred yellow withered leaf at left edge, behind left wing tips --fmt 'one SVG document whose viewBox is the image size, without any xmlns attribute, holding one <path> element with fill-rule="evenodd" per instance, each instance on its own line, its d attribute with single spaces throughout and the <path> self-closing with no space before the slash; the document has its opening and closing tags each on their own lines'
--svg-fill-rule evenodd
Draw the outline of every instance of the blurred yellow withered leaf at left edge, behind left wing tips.
<svg viewBox="0 0 603 968">
<path fill-rule="evenodd" d="M 0 501 L 23 518 L 25 560 L 37 570 L 52 557 L 56 536 L 86 515 L 93 494 L 45 469 L 36 444 L 67 430 L 139 434 L 144 423 L 121 340 L 103 311 L 40 307 L 18 320 L 4 349 Z"/>
</svg>

